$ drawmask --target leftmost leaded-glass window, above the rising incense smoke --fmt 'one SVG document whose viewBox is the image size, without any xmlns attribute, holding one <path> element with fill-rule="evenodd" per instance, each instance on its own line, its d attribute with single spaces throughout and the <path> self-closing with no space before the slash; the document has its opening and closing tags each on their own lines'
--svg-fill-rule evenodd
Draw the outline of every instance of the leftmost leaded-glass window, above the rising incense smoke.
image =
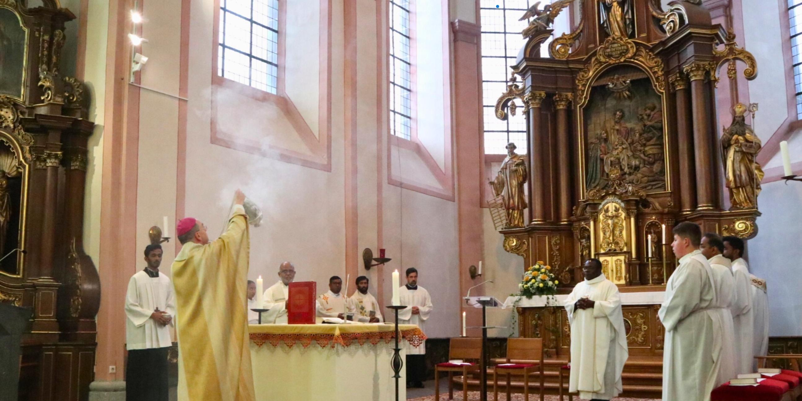
<svg viewBox="0 0 802 401">
<path fill-rule="evenodd" d="M 217 75 L 276 93 L 278 1 L 220 0 Z"/>
</svg>

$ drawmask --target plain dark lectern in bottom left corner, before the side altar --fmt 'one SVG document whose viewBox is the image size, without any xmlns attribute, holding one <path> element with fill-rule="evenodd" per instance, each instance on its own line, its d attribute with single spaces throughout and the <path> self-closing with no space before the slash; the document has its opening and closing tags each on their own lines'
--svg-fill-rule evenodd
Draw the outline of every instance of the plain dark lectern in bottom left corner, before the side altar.
<svg viewBox="0 0 802 401">
<path fill-rule="evenodd" d="M 19 347 L 33 310 L 0 303 L 0 401 L 17 401 Z"/>
</svg>

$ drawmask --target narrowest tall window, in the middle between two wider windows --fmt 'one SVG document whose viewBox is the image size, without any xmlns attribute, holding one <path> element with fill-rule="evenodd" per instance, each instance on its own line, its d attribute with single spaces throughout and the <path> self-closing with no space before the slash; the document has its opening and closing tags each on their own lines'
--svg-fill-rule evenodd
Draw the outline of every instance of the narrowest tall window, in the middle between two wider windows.
<svg viewBox="0 0 802 401">
<path fill-rule="evenodd" d="M 412 137 L 409 3 L 390 1 L 390 129 L 405 140 Z"/>
</svg>

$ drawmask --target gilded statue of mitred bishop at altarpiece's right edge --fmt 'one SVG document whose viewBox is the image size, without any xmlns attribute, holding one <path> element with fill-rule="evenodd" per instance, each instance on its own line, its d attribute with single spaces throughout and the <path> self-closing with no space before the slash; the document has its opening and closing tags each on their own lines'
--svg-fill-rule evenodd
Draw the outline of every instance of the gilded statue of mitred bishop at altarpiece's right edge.
<svg viewBox="0 0 802 401">
<path fill-rule="evenodd" d="M 753 209 L 757 207 L 760 193 L 760 180 L 764 172 L 755 160 L 760 152 L 760 139 L 746 124 L 747 107 L 735 105 L 735 116 L 730 128 L 724 128 L 721 146 L 724 160 L 724 178 L 730 190 L 732 209 Z"/>
</svg>

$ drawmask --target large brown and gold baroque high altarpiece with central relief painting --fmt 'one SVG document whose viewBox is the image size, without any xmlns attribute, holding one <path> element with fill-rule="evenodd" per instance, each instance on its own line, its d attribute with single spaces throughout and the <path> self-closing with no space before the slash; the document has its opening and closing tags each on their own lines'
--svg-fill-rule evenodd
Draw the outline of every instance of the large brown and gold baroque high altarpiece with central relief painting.
<svg viewBox="0 0 802 401">
<path fill-rule="evenodd" d="M 561 12 L 576 27 L 553 37 Z M 716 115 L 715 91 L 722 78 L 755 79 L 757 67 L 700 0 L 667 10 L 652 0 L 561 0 L 526 15 L 527 42 L 496 117 L 521 109 L 527 117 L 528 177 L 518 182 L 528 195 L 519 209 L 529 216 L 500 229 L 504 249 L 524 266 L 550 265 L 559 294 L 581 280 L 578 266 L 590 257 L 622 292 L 641 293 L 664 290 L 677 265 L 670 242 L 678 222 L 756 235 L 762 172 L 759 140 L 746 124 L 756 105 Z M 662 353 L 658 307 L 625 306 L 631 355 Z M 567 354 L 565 310 L 518 313 L 521 336 L 542 336 Z"/>
</svg>

